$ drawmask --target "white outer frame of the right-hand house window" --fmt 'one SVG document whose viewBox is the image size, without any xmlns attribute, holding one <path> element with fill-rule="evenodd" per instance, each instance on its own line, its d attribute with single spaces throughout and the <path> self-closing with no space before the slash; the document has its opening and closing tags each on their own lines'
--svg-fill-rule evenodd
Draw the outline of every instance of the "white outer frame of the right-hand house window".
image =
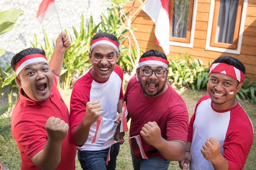
<svg viewBox="0 0 256 170">
<path fill-rule="evenodd" d="M 241 15 L 241 22 L 240 22 L 240 29 L 239 29 L 237 49 L 232 50 L 232 49 L 210 46 L 211 29 L 212 29 L 212 24 L 213 24 L 213 13 L 214 13 L 214 5 L 215 5 L 215 0 L 211 0 L 205 50 L 217 51 L 217 52 L 222 52 L 222 53 L 240 54 L 241 46 L 242 46 L 242 40 L 243 40 L 243 32 L 244 32 L 244 28 L 245 28 L 245 18 L 246 18 L 247 4 L 248 4 L 248 0 L 244 0 L 243 11 L 242 11 L 242 15 Z"/>
</svg>

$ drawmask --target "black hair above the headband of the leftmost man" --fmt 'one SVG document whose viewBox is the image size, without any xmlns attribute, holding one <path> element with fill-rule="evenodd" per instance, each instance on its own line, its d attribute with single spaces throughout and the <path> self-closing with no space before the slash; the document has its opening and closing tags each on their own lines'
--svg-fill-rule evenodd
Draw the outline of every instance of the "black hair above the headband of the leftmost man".
<svg viewBox="0 0 256 170">
<path fill-rule="evenodd" d="M 14 55 L 11 59 L 11 68 L 15 71 L 16 64 L 22 59 L 23 57 L 30 55 L 30 54 L 43 54 L 45 55 L 45 51 L 43 49 L 37 49 L 37 48 L 28 48 L 25 50 L 20 51 L 16 55 Z"/>
</svg>

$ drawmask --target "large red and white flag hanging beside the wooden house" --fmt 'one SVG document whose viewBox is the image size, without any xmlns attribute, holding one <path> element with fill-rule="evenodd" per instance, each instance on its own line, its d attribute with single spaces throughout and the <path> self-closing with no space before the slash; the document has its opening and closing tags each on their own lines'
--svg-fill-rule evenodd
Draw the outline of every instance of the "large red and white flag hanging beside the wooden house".
<svg viewBox="0 0 256 170">
<path fill-rule="evenodd" d="M 147 0 L 141 9 L 155 23 L 155 44 L 162 47 L 164 53 L 170 53 L 170 20 L 168 0 Z"/>
</svg>

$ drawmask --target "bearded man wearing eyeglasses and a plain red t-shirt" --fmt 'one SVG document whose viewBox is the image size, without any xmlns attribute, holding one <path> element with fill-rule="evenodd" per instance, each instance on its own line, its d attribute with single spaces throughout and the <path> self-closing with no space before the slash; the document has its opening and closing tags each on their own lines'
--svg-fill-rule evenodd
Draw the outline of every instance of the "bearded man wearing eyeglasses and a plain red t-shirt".
<svg viewBox="0 0 256 170">
<path fill-rule="evenodd" d="M 126 87 L 130 136 L 141 135 L 148 157 L 142 159 L 136 140 L 130 139 L 135 170 L 167 170 L 170 161 L 181 160 L 186 151 L 189 115 L 183 99 L 167 82 L 168 64 L 164 53 L 147 51 Z"/>
</svg>

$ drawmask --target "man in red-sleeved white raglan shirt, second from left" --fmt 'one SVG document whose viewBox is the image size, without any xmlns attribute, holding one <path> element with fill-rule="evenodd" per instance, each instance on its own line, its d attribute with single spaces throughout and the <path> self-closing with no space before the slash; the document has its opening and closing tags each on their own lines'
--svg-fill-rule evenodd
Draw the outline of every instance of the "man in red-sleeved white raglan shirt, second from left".
<svg viewBox="0 0 256 170">
<path fill-rule="evenodd" d="M 83 170 L 115 170 L 119 144 L 111 147 L 119 134 L 117 121 L 104 121 L 99 140 L 93 141 L 99 117 L 119 120 L 124 103 L 123 71 L 118 62 L 119 42 L 114 35 L 97 33 L 91 41 L 89 60 L 92 67 L 74 83 L 70 99 L 70 124 L 78 159 Z M 120 127 L 120 126 L 118 126 Z M 119 140 L 119 139 L 117 139 Z"/>
</svg>

